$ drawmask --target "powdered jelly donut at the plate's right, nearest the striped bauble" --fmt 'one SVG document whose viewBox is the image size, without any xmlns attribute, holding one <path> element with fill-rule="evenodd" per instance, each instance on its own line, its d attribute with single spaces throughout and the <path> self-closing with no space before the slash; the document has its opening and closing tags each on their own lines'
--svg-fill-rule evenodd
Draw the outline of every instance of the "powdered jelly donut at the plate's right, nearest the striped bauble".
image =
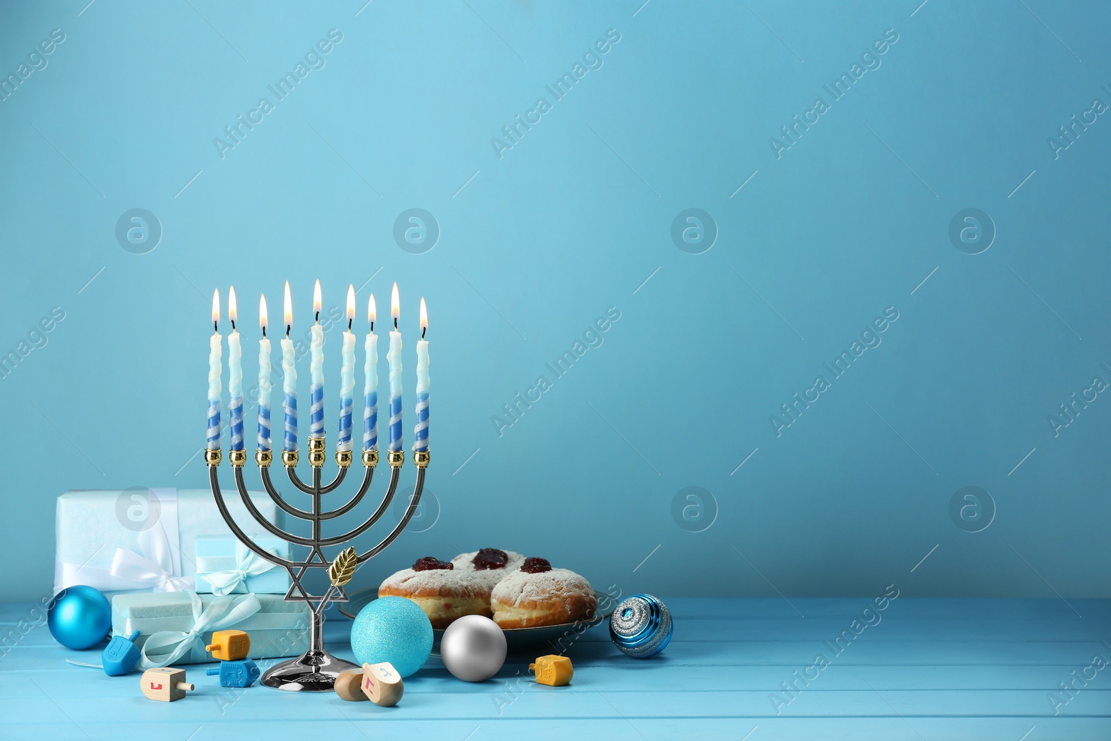
<svg viewBox="0 0 1111 741">
<path fill-rule="evenodd" d="M 503 629 L 590 620 L 597 607 L 589 581 L 538 558 L 524 559 L 490 593 L 493 620 Z"/>
</svg>

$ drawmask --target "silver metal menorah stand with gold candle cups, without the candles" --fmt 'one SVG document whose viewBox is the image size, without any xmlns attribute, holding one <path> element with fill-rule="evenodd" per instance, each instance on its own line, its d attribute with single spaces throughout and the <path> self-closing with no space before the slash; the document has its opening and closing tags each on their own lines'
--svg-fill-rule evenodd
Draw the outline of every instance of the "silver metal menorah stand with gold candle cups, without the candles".
<svg viewBox="0 0 1111 741">
<path fill-rule="evenodd" d="M 351 580 L 356 568 L 360 563 L 369 561 L 386 550 L 390 543 L 397 540 L 398 535 L 401 534 L 401 531 L 406 529 L 406 525 L 409 524 L 409 520 L 412 518 L 417 505 L 420 503 L 421 491 L 424 488 L 424 471 L 429 463 L 428 450 L 418 450 L 413 452 L 413 463 L 417 467 L 417 482 L 413 485 L 413 492 L 409 499 L 409 507 L 406 509 L 406 513 L 401 518 L 401 521 L 398 522 L 397 527 L 393 528 L 393 530 L 386 538 L 368 551 L 357 554 L 353 548 L 348 548 L 341 551 L 332 561 L 329 561 L 324 555 L 323 549 L 341 545 L 353 538 L 358 538 L 362 533 L 370 530 L 370 528 L 373 527 L 379 519 L 381 519 L 382 514 L 386 513 L 386 510 L 389 508 L 390 502 L 393 500 L 393 495 L 398 490 L 398 479 L 401 477 L 401 468 L 404 465 L 406 453 L 402 450 L 387 451 L 387 461 L 390 465 L 390 483 L 386 489 L 386 495 L 382 498 L 378 509 L 376 509 L 373 513 L 371 513 L 371 515 L 367 518 L 367 520 L 358 528 L 349 530 L 341 535 L 324 538 L 321 533 L 321 525 L 328 520 L 334 520 L 336 518 L 351 512 L 359 505 L 362 499 L 367 495 L 367 492 L 370 491 L 371 480 L 374 478 L 374 469 L 378 465 L 378 450 L 362 451 L 362 465 L 364 470 L 362 483 L 359 485 L 358 491 L 356 491 L 354 495 L 351 497 L 351 499 L 342 507 L 326 511 L 322 509 L 322 498 L 324 494 L 334 492 L 343 483 L 348 469 L 351 467 L 352 453 L 350 450 L 337 450 L 336 463 L 339 467 L 339 470 L 336 478 L 329 483 L 322 483 L 321 469 L 324 465 L 324 448 L 323 438 L 309 438 L 309 465 L 312 468 L 311 483 L 303 482 L 297 473 L 298 451 L 296 449 L 282 451 L 281 454 L 281 462 L 286 467 L 286 472 L 289 474 L 290 482 L 298 491 L 301 491 L 312 498 L 311 510 L 303 510 L 298 507 L 293 507 L 284 500 L 281 493 L 279 493 L 274 488 L 273 481 L 270 478 L 270 464 L 272 462 L 273 453 L 270 450 L 261 449 L 254 451 L 254 460 L 259 465 L 259 474 L 262 479 L 262 485 L 267 493 L 270 494 L 270 498 L 273 499 L 274 503 L 278 504 L 278 507 L 281 508 L 281 510 L 287 514 L 312 523 L 312 535 L 310 538 L 302 538 L 300 535 L 286 532 L 267 520 L 266 517 L 259 512 L 258 508 L 254 507 L 254 503 L 248 494 L 247 485 L 243 482 L 243 464 L 247 462 L 247 451 L 231 450 L 229 451 L 228 457 L 234 473 L 236 489 L 239 491 L 239 495 L 243 500 L 243 505 L 247 508 L 247 511 L 250 512 L 259 525 L 268 532 L 293 545 L 303 545 L 308 548 L 309 554 L 303 561 L 291 561 L 274 555 L 260 545 L 257 545 L 251 540 L 250 535 L 243 532 L 243 530 L 236 523 L 231 514 L 228 512 L 228 505 L 223 500 L 223 492 L 220 490 L 218 468 L 222 457 L 221 450 L 216 448 L 204 451 L 204 461 L 209 467 L 209 482 L 212 485 L 212 494 L 216 497 L 216 504 L 220 509 L 220 514 L 228 523 L 228 527 L 236 534 L 236 538 L 238 538 L 248 549 L 271 563 L 284 567 L 284 569 L 289 572 L 292 583 L 290 584 L 289 591 L 286 593 L 287 601 L 306 602 L 311 609 L 312 622 L 309 650 L 297 659 L 276 664 L 262 675 L 263 684 L 292 692 L 330 692 L 334 689 L 336 678 L 339 677 L 341 671 L 344 669 L 357 668 L 356 664 L 350 661 L 337 659 L 324 650 L 324 609 L 331 602 L 347 602 L 348 597 L 343 591 L 343 585 Z M 328 575 L 331 585 L 323 594 L 310 594 L 306 590 L 304 584 L 301 583 L 306 573 L 311 569 L 327 569 L 329 571 Z"/>
</svg>

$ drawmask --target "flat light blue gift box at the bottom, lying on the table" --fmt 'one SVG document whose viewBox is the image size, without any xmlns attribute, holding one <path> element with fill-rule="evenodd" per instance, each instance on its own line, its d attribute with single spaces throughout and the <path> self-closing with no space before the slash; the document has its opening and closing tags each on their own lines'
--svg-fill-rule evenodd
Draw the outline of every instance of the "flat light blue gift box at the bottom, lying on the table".
<svg viewBox="0 0 1111 741">
<path fill-rule="evenodd" d="M 296 657 L 309 650 L 312 617 L 304 602 L 281 594 L 197 594 L 136 592 L 112 598 L 112 632 L 139 631 L 141 668 L 206 663 L 204 647 L 217 630 L 243 630 L 251 637 L 251 659 Z"/>
</svg>

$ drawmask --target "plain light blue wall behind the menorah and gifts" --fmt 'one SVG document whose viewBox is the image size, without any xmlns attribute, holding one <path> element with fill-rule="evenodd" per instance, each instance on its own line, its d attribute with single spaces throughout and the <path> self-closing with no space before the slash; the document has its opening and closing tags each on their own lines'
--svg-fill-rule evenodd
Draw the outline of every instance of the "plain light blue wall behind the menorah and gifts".
<svg viewBox="0 0 1111 741">
<path fill-rule="evenodd" d="M 1105 597 L 1111 401 L 1058 437 L 1047 417 L 1111 381 L 1111 121 L 1059 158 L 1047 138 L 1111 103 L 1111 10 L 641 2 L 3 3 L 4 76 L 66 36 L 0 102 L 0 350 L 66 317 L 0 381 L 3 597 L 49 591 L 62 491 L 206 485 L 212 289 L 237 288 L 250 380 L 259 292 L 277 314 L 290 279 L 303 333 L 318 277 L 327 304 L 370 279 L 360 336 L 367 292 L 400 284 L 410 440 L 430 306 L 439 512 L 362 585 L 500 545 L 624 592 Z M 213 138 L 330 29 L 323 69 L 221 158 Z M 881 66 L 777 158 L 769 138 L 888 29 Z M 146 254 L 114 234 L 132 208 L 163 230 Z M 410 208 L 441 230 L 423 254 L 392 236 Z M 688 208 L 719 232 L 702 254 L 670 234 Z M 967 208 L 998 232 L 980 254 L 949 237 Z M 499 435 L 609 307 L 601 347 Z M 888 307 L 882 343 L 777 435 Z M 974 533 L 950 515 L 969 485 L 995 510 Z M 712 500 L 675 519 L 687 487 Z"/>
</svg>

